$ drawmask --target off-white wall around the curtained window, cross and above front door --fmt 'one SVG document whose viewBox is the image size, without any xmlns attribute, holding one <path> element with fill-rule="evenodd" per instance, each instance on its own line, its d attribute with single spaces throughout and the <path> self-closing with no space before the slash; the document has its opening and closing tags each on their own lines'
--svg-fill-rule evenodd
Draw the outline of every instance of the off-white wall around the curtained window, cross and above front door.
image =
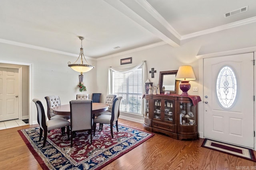
<svg viewBox="0 0 256 170">
<path fill-rule="evenodd" d="M 192 88 L 188 91 L 190 95 L 199 95 L 203 100 L 202 87 L 199 84 L 199 76 L 202 79 L 203 69 L 200 69 L 199 64 L 202 65 L 202 59 L 198 60 L 197 55 L 204 55 L 210 53 L 217 53 L 222 51 L 230 51 L 236 49 L 243 49 L 248 47 L 256 47 L 256 23 L 250 23 L 239 27 L 225 29 L 207 35 L 185 39 L 181 41 L 180 47 L 171 47 L 170 45 L 161 45 L 142 51 L 119 55 L 117 57 L 105 57 L 97 62 L 97 85 L 98 91 L 102 92 L 102 98 L 106 96 L 106 82 L 108 76 L 108 67 L 124 67 L 137 65 L 146 60 L 148 77 L 156 86 L 159 82 L 159 72 L 168 70 L 178 70 L 180 65 L 191 65 L 193 67 L 196 80 L 190 81 L 191 87 L 198 87 L 198 92 L 192 92 Z M 132 64 L 120 65 L 120 59 L 132 57 Z M 155 77 L 151 78 L 149 71 L 154 68 L 157 72 Z M 181 94 L 179 91 L 178 94 Z M 203 112 L 202 102 L 199 103 L 199 132 L 203 134 Z M 141 119 L 140 119 L 141 120 Z M 140 121 L 139 120 L 139 121 Z"/>
</svg>

